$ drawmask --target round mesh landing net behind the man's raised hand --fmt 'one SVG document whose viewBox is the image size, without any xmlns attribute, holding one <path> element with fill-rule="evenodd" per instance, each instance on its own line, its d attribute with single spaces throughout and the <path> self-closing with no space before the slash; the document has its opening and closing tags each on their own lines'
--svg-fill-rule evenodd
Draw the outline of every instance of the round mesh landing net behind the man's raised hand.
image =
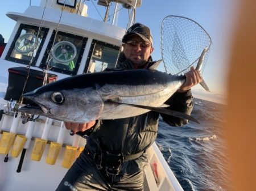
<svg viewBox="0 0 256 191">
<path fill-rule="evenodd" d="M 197 61 L 205 48 L 204 71 L 212 40 L 200 24 L 183 16 L 169 15 L 161 26 L 161 51 L 167 73 L 177 75 L 187 72 Z"/>
</svg>

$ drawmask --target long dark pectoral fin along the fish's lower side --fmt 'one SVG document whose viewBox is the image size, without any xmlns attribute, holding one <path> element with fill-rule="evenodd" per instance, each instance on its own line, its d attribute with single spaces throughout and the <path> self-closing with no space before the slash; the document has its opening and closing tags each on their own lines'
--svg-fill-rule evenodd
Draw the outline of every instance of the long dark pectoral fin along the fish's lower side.
<svg viewBox="0 0 256 191">
<path fill-rule="evenodd" d="M 118 103 L 118 102 L 114 102 L 112 100 L 106 100 L 106 103 L 129 105 L 132 107 L 148 109 L 148 110 L 155 111 L 158 113 L 168 114 L 169 116 L 184 118 L 185 120 L 190 120 L 190 121 L 196 122 L 197 124 L 200 124 L 200 122 L 197 121 L 196 118 L 189 116 L 188 114 L 173 111 L 173 110 L 167 109 L 167 108 L 159 108 L 159 107 L 151 107 L 151 106 L 146 106 L 146 105 L 135 105 L 135 104 L 127 104 L 127 103 Z"/>
</svg>

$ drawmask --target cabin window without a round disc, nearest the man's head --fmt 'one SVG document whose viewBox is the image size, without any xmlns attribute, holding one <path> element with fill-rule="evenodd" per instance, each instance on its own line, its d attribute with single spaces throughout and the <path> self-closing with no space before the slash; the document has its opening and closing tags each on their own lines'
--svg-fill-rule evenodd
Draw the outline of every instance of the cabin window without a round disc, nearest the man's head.
<svg viewBox="0 0 256 191">
<path fill-rule="evenodd" d="M 93 40 L 84 73 L 103 71 L 107 67 L 114 68 L 119 55 L 119 46 Z"/>
</svg>

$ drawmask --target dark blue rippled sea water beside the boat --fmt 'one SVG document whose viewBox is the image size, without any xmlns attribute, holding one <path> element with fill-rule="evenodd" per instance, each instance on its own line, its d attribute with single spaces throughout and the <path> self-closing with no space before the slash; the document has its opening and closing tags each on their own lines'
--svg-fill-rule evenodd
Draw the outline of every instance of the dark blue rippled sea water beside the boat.
<svg viewBox="0 0 256 191">
<path fill-rule="evenodd" d="M 185 191 L 231 190 L 226 152 L 225 105 L 195 98 L 189 122 L 171 127 L 160 119 L 156 144 Z"/>
</svg>

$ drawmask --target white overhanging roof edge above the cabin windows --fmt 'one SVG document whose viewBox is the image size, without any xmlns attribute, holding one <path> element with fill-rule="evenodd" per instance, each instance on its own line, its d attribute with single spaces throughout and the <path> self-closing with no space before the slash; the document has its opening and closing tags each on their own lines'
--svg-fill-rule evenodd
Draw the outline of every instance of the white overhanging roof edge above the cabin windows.
<svg viewBox="0 0 256 191">
<path fill-rule="evenodd" d="M 46 8 L 44 10 L 44 7 L 39 6 L 30 6 L 24 13 L 7 12 L 6 15 L 15 21 L 36 25 L 42 23 L 43 27 L 56 27 L 60 31 L 76 31 L 77 35 L 105 39 L 115 45 L 121 45 L 122 36 L 125 34 L 124 28 L 100 20 L 65 11 L 61 13 L 61 10 L 57 9 Z M 43 22 L 41 22 L 42 20 Z"/>
</svg>

